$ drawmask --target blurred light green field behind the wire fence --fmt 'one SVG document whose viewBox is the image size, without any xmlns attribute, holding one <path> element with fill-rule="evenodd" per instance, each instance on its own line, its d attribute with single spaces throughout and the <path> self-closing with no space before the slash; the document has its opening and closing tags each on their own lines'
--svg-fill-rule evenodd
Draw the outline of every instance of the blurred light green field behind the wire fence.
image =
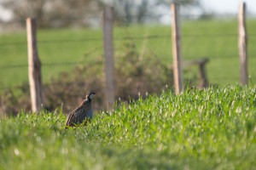
<svg viewBox="0 0 256 170">
<path fill-rule="evenodd" d="M 236 20 L 184 21 L 182 29 L 183 59 L 209 58 L 207 75 L 212 83 L 225 85 L 239 82 Z M 247 20 L 247 30 L 249 74 L 255 83 L 256 20 Z M 122 37 L 133 38 L 122 40 Z M 114 38 L 115 55 L 123 52 L 125 42 L 132 42 L 142 57 L 154 55 L 166 65 L 172 65 L 170 26 L 115 27 Z M 49 82 L 50 77 L 55 77 L 60 71 L 72 71 L 76 65 L 103 59 L 102 31 L 39 29 L 38 50 L 43 64 L 44 82 Z M 26 31 L 1 34 L 0 54 L 0 86 L 12 87 L 27 82 Z M 192 70 L 197 73 L 197 68 L 192 67 Z"/>
</svg>

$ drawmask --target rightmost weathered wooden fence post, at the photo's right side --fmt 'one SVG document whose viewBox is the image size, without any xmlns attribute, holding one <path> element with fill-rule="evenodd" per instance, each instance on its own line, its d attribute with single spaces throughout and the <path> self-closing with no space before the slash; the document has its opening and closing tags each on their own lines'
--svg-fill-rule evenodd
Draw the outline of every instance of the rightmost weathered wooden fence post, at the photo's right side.
<svg viewBox="0 0 256 170">
<path fill-rule="evenodd" d="M 238 48 L 240 57 L 240 77 L 241 85 L 248 83 L 247 70 L 247 27 L 246 27 L 246 3 L 240 2 L 238 12 Z"/>
</svg>

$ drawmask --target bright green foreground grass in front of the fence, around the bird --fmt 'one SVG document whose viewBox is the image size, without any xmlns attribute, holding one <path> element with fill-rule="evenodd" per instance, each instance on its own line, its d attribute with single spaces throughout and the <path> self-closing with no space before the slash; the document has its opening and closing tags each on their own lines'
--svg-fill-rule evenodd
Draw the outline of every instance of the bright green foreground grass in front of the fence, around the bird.
<svg viewBox="0 0 256 170">
<path fill-rule="evenodd" d="M 88 127 L 66 116 L 0 120 L 0 169 L 255 169 L 256 88 L 150 95 Z"/>
</svg>

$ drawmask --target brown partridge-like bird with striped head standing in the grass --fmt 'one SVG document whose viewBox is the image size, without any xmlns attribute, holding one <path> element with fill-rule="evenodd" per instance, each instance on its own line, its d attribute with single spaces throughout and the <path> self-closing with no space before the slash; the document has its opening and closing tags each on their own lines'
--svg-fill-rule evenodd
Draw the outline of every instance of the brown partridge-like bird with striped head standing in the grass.
<svg viewBox="0 0 256 170">
<path fill-rule="evenodd" d="M 91 100 L 95 94 L 96 94 L 95 92 L 89 91 L 86 94 L 86 97 L 83 100 L 83 102 L 75 110 L 73 110 L 68 114 L 67 121 L 66 121 L 66 128 L 74 127 L 84 122 L 85 123 L 87 123 L 88 121 L 90 122 L 93 116 Z"/>
</svg>

